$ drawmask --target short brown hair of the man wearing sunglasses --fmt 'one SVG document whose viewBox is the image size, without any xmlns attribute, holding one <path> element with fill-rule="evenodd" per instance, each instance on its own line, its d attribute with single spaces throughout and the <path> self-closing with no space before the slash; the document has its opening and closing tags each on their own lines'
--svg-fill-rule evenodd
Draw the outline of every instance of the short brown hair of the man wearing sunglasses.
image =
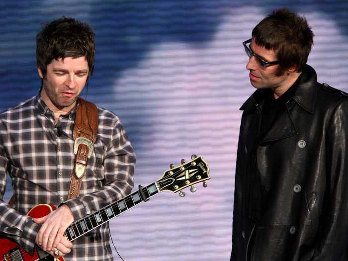
<svg viewBox="0 0 348 261">
<path fill-rule="evenodd" d="M 255 43 L 274 50 L 279 61 L 277 76 L 291 67 L 301 72 L 313 45 L 313 32 L 305 17 L 287 8 L 274 10 L 252 32 Z"/>
</svg>

